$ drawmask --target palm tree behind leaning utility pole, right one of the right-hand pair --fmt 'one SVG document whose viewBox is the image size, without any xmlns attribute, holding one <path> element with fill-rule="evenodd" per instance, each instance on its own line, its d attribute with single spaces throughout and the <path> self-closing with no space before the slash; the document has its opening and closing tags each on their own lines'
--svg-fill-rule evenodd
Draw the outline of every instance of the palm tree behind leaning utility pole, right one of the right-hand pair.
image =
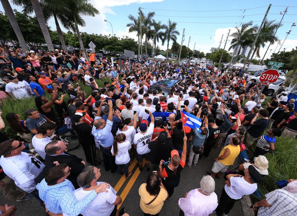
<svg viewBox="0 0 297 216">
<path fill-rule="evenodd" d="M 251 59 L 247 65 L 247 67 L 250 66 L 251 60 L 253 59 L 255 54 L 256 54 L 256 57 L 260 58 L 260 48 L 261 47 L 264 48 L 266 43 L 274 44 L 274 42 L 278 41 L 278 37 L 274 35 L 275 31 L 278 28 L 278 25 L 279 25 L 278 23 L 275 23 L 275 20 L 272 20 L 272 21 L 268 21 L 267 19 L 265 20 L 264 25 L 261 29 L 260 35 L 256 41 L 255 49 L 253 51 L 253 54 L 251 56 Z M 256 31 L 255 31 L 255 33 L 256 33 Z M 255 35 L 253 34 L 253 36 L 255 36 Z"/>
</svg>

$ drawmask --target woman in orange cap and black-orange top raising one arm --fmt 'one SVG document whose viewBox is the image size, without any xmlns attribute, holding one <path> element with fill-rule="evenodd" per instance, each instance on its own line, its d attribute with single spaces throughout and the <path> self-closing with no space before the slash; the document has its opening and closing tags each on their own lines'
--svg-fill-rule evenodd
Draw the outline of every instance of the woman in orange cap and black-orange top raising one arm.
<svg viewBox="0 0 297 216">
<path fill-rule="evenodd" d="M 184 136 L 184 145 L 182 148 L 181 157 L 179 157 L 177 150 L 172 150 L 171 161 L 165 162 L 164 160 L 160 161 L 159 164 L 159 174 L 162 178 L 162 183 L 168 192 L 168 199 L 172 196 L 174 188 L 178 186 L 181 171 L 183 170 L 186 164 L 186 152 L 187 152 L 187 137 Z M 165 179 L 164 179 L 165 178 Z"/>
</svg>

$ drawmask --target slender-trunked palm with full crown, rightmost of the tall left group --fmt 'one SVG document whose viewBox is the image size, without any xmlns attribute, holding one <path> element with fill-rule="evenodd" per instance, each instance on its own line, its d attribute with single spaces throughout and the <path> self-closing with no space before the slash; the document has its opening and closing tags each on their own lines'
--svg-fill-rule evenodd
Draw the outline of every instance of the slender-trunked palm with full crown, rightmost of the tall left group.
<svg viewBox="0 0 297 216">
<path fill-rule="evenodd" d="M 94 17 L 96 14 L 99 14 L 99 11 L 89 2 L 89 0 L 60 0 L 60 2 L 61 5 L 63 5 L 64 7 L 65 13 L 70 16 L 75 24 L 76 34 L 81 46 L 81 51 L 84 53 L 85 58 L 88 59 L 87 55 L 85 54 L 84 44 L 81 40 L 81 34 L 78 28 L 78 21 L 83 20 L 81 18 L 82 15 Z M 82 22 L 81 26 L 85 26 L 85 22 Z"/>
</svg>

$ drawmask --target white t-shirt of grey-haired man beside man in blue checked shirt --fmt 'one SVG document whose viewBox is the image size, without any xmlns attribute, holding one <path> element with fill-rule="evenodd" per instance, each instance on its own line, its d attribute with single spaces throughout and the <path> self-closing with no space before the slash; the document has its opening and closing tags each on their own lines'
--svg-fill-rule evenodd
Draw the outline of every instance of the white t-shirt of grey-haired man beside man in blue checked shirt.
<svg viewBox="0 0 297 216">
<path fill-rule="evenodd" d="M 97 182 L 97 185 L 104 182 Z M 106 188 L 108 192 L 98 193 L 97 197 L 91 202 L 91 204 L 81 213 L 84 216 L 108 216 L 115 208 L 114 203 L 116 201 L 116 191 L 111 186 Z M 78 201 L 88 196 L 92 191 L 84 191 L 83 188 L 78 188 L 73 191 L 74 196 Z"/>
</svg>

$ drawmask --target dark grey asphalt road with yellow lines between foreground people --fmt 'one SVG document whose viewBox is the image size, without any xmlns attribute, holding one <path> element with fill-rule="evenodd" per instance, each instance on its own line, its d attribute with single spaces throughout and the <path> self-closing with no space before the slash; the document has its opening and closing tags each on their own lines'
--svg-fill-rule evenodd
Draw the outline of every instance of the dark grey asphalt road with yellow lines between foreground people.
<svg viewBox="0 0 297 216">
<path fill-rule="evenodd" d="M 211 171 L 213 159 L 218 156 L 219 152 L 220 152 L 219 149 L 212 149 L 210 156 L 208 158 L 202 157 L 202 159 L 198 161 L 197 166 L 192 165 L 191 168 L 189 168 L 187 165 L 185 166 L 185 168 L 181 173 L 180 184 L 177 188 L 175 188 L 174 194 L 171 197 L 171 199 L 164 202 L 164 206 L 159 214 L 160 216 L 179 214 L 180 208 L 178 206 L 178 199 L 181 197 L 184 197 L 186 192 L 189 192 L 194 188 L 199 188 L 199 182 L 201 178 L 203 177 L 203 175 L 206 175 L 206 171 Z M 85 159 L 83 149 L 81 146 L 78 149 L 72 151 L 71 153 L 77 155 L 80 158 Z M 97 154 L 97 157 L 98 157 L 98 154 Z M 132 158 L 134 159 L 134 157 Z M 101 168 L 101 173 L 102 173 L 101 177 L 99 178 L 99 181 L 108 182 L 112 187 L 119 188 L 121 184 L 118 183 L 120 180 L 120 175 L 118 173 L 111 174 L 110 172 L 106 172 L 103 167 L 103 164 L 98 166 L 98 168 Z M 120 206 L 120 209 L 124 207 L 125 212 L 128 213 L 130 216 L 143 215 L 139 207 L 140 197 L 138 194 L 138 188 L 142 183 L 146 181 L 148 174 L 149 173 L 146 171 L 146 166 L 144 166 L 144 169 L 142 172 L 139 172 L 137 165 L 135 165 L 133 167 L 133 175 L 128 180 L 123 181 L 122 186 L 119 189 L 117 189 L 117 194 L 120 195 L 122 198 L 124 198 L 123 195 L 127 193 L 127 196 L 124 199 L 122 205 Z M 215 192 L 219 199 L 221 196 L 221 190 L 224 187 L 225 182 L 223 178 L 215 179 L 215 182 L 216 182 Z M 27 200 L 27 201 L 13 202 L 5 199 L 3 195 L 0 194 L 0 203 L 1 205 L 4 205 L 6 203 L 8 205 L 15 205 L 17 207 L 17 211 L 15 213 L 16 216 L 46 215 L 45 211 L 42 209 L 40 205 L 38 205 L 35 198 L 31 198 L 30 200 Z M 228 215 L 229 216 L 243 215 L 241 201 L 236 202 L 236 204 L 234 205 L 234 208 L 231 210 L 231 212 Z"/>
</svg>

